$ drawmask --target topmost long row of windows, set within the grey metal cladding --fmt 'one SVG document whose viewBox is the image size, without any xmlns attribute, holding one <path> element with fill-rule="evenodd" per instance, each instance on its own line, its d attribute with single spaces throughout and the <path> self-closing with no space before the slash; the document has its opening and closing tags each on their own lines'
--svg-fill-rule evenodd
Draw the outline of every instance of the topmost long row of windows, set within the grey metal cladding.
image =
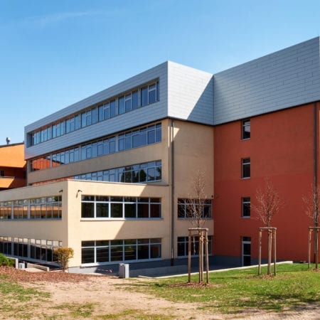
<svg viewBox="0 0 320 320">
<path fill-rule="evenodd" d="M 34 146 L 41 142 L 60 137 L 69 132 L 90 126 L 97 122 L 101 122 L 119 114 L 129 112 L 159 101 L 159 82 L 144 85 L 139 89 L 128 92 L 117 98 L 105 102 L 103 105 L 92 107 L 84 112 L 75 114 L 68 119 L 64 119 L 48 127 L 32 132 L 30 134 L 30 145 Z"/>
</svg>

